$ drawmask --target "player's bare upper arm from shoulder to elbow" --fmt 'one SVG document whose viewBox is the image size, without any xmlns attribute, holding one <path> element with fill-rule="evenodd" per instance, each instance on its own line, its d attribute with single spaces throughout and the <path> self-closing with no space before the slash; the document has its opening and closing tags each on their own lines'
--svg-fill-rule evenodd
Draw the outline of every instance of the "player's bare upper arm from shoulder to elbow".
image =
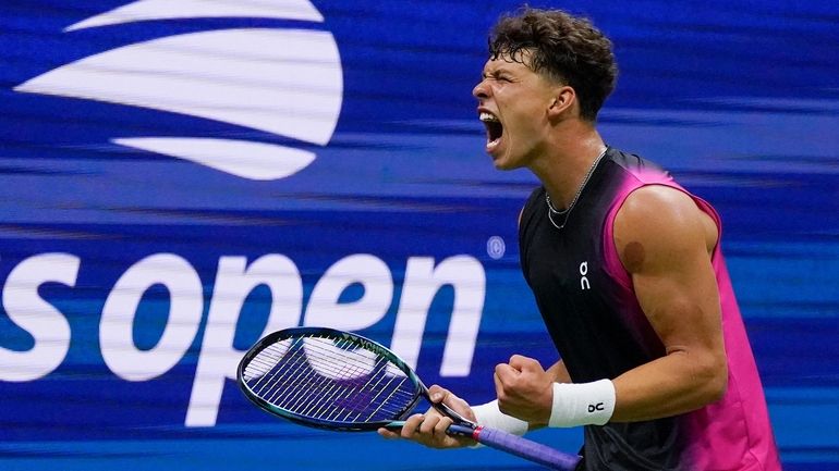
<svg viewBox="0 0 839 471">
<path fill-rule="evenodd" d="M 654 188 L 634 196 L 618 213 L 615 234 L 644 314 L 668 354 L 721 349 L 719 292 L 703 219 L 707 216 L 677 189 Z"/>
</svg>

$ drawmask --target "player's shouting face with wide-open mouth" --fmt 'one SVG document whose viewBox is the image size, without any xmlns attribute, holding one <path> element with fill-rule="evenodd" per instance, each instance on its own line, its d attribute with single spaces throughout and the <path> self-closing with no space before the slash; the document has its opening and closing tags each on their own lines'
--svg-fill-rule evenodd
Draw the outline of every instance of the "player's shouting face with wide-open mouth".
<svg viewBox="0 0 839 471">
<path fill-rule="evenodd" d="M 487 129 L 487 153 L 497 169 L 527 166 L 546 144 L 557 84 L 504 55 L 487 61 L 482 76 L 472 95 Z"/>
</svg>

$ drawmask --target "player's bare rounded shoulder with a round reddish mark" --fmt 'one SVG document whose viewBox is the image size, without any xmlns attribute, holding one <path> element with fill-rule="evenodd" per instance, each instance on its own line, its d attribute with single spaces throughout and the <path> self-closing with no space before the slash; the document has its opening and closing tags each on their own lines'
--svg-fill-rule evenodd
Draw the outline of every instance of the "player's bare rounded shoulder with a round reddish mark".
<svg viewBox="0 0 839 471">
<path fill-rule="evenodd" d="M 615 216 L 615 246 L 624 268 L 636 272 L 655 264 L 672 265 L 710 253 L 716 223 L 686 193 L 666 185 L 632 191 Z"/>
</svg>

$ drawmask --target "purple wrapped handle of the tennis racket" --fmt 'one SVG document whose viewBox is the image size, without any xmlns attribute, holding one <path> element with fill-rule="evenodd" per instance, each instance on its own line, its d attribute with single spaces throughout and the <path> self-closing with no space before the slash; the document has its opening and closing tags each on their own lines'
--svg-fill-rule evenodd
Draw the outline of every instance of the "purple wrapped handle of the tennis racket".
<svg viewBox="0 0 839 471">
<path fill-rule="evenodd" d="M 560 471 L 573 471 L 581 459 L 579 456 L 496 429 L 478 426 L 472 433 L 472 438 L 486 446 Z"/>
</svg>

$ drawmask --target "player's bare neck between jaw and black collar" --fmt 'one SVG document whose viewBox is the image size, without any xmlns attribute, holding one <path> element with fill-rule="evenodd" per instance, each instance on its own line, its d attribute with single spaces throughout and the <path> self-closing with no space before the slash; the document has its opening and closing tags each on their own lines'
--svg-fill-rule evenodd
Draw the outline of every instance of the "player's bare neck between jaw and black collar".
<svg viewBox="0 0 839 471">
<path fill-rule="evenodd" d="M 567 127 L 552 133 L 546 151 L 530 165 L 559 210 L 572 203 L 595 160 L 606 149 L 591 124 L 577 122 Z"/>
</svg>

